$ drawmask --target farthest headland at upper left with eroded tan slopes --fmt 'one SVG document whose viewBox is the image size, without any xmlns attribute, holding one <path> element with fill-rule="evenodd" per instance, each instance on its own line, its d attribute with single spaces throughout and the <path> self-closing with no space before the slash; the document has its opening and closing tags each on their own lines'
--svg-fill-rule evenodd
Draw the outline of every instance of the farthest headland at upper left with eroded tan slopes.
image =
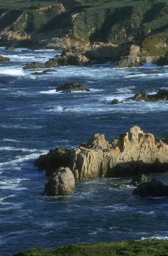
<svg viewBox="0 0 168 256">
<path fill-rule="evenodd" d="M 0 9 L 0 42 L 17 43 L 31 38 L 41 26 L 65 12 L 62 4 L 34 10 Z"/>
</svg>

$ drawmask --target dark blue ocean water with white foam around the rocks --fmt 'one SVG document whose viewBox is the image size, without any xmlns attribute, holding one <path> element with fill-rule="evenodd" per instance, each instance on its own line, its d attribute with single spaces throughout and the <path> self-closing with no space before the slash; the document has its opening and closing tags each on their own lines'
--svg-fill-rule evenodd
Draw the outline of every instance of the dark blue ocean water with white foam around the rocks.
<svg viewBox="0 0 168 256">
<path fill-rule="evenodd" d="M 47 197 L 41 193 L 48 178 L 34 167 L 50 148 L 73 148 L 95 133 L 111 141 L 138 125 L 168 136 L 168 102 L 110 105 L 142 90 L 168 89 L 168 67 L 113 69 L 106 63 L 33 76 L 34 70 L 22 69 L 26 63 L 61 52 L 4 49 L 11 62 L 0 63 L 0 255 L 84 241 L 168 239 L 168 198 L 133 196 L 133 187 L 116 187 L 129 181 L 124 178 L 77 181 L 74 195 Z M 57 93 L 66 82 L 80 82 L 91 92 Z M 168 173 L 152 177 L 168 184 Z"/>
</svg>

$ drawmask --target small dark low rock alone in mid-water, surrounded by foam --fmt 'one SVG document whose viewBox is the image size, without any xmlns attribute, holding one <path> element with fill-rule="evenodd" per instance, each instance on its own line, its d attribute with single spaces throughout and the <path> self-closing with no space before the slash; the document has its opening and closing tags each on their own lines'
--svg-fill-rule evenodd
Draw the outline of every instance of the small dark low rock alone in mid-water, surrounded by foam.
<svg viewBox="0 0 168 256">
<path fill-rule="evenodd" d="M 60 85 L 57 87 L 56 91 L 60 92 L 62 91 L 63 93 L 71 93 L 74 91 L 87 91 L 90 92 L 90 89 L 88 87 L 86 87 L 83 84 L 79 84 L 79 83 L 71 83 L 71 84 L 64 84 L 64 85 Z"/>
</svg>

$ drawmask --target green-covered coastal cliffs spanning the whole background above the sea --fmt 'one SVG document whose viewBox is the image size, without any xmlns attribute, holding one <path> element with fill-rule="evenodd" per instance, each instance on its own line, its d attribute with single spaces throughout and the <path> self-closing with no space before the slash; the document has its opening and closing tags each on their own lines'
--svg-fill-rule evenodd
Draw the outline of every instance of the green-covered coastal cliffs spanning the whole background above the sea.
<svg viewBox="0 0 168 256">
<path fill-rule="evenodd" d="M 23 41 L 60 50 L 75 46 L 90 60 L 119 61 L 116 67 L 168 62 L 168 3 L 164 0 L 61 0 L 48 1 L 44 7 L 29 2 L 24 10 L 1 7 L 1 44 Z M 130 54 L 131 45 L 139 46 L 136 54 Z"/>
</svg>

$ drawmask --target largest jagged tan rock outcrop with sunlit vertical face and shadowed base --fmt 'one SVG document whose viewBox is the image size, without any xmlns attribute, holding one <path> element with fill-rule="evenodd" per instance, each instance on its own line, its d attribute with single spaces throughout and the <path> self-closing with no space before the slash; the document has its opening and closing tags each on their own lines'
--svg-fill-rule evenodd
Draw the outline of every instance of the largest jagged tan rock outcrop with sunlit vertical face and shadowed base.
<svg viewBox="0 0 168 256">
<path fill-rule="evenodd" d="M 46 175 L 51 175 L 61 166 L 69 167 L 78 180 L 164 172 L 168 170 L 168 144 L 166 140 L 155 140 L 154 135 L 143 133 L 134 126 L 111 143 L 103 134 L 95 134 L 88 143 L 77 148 L 50 150 L 35 160 L 35 166 L 46 169 Z"/>
</svg>

